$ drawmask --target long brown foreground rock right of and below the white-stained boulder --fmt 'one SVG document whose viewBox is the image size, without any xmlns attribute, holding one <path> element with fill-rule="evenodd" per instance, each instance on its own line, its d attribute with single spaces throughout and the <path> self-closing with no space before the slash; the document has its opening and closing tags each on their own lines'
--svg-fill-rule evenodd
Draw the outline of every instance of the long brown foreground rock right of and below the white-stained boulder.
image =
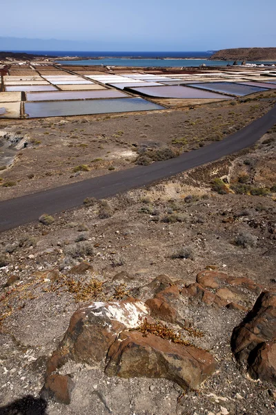
<svg viewBox="0 0 276 415">
<path fill-rule="evenodd" d="M 184 389 L 198 389 L 215 371 L 213 356 L 192 346 L 139 331 L 121 333 L 108 351 L 108 376 L 166 378 Z"/>
</svg>

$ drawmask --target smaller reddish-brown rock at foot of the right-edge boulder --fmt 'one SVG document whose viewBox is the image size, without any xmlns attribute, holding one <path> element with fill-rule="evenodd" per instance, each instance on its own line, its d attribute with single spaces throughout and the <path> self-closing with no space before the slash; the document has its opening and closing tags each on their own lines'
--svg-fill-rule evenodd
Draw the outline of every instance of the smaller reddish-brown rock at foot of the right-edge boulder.
<svg viewBox="0 0 276 415">
<path fill-rule="evenodd" d="M 262 344 L 248 371 L 253 379 L 266 380 L 276 386 L 276 339 Z"/>
</svg>

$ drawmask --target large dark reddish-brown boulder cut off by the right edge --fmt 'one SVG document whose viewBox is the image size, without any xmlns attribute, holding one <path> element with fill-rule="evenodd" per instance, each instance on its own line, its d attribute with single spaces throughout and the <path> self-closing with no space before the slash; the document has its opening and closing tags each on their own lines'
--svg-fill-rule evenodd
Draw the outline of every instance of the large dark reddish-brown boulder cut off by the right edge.
<svg viewBox="0 0 276 415">
<path fill-rule="evenodd" d="M 253 310 L 235 327 L 231 346 L 235 358 L 253 378 L 276 384 L 276 292 L 264 292 Z"/>
</svg>

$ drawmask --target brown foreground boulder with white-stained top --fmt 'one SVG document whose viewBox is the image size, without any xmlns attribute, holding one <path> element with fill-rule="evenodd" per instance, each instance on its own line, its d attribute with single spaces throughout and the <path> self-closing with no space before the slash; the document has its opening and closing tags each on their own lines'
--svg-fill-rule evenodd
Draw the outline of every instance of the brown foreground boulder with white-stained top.
<svg viewBox="0 0 276 415">
<path fill-rule="evenodd" d="M 131 298 L 122 302 L 94 302 L 75 311 L 63 340 L 48 360 L 43 397 L 69 403 L 72 383 L 54 372 L 69 359 L 99 364 L 119 333 L 139 326 L 140 319 L 148 315 L 148 307 Z"/>
</svg>

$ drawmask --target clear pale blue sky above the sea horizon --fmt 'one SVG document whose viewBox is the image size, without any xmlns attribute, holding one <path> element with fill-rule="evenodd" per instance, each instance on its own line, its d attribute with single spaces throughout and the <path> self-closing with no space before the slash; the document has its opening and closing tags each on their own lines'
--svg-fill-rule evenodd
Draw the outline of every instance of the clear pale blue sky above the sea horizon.
<svg viewBox="0 0 276 415">
<path fill-rule="evenodd" d="M 20 50 L 273 47 L 275 15 L 275 0 L 13 0 L 1 4 L 0 37 L 27 38 L 6 39 Z"/>
</svg>

